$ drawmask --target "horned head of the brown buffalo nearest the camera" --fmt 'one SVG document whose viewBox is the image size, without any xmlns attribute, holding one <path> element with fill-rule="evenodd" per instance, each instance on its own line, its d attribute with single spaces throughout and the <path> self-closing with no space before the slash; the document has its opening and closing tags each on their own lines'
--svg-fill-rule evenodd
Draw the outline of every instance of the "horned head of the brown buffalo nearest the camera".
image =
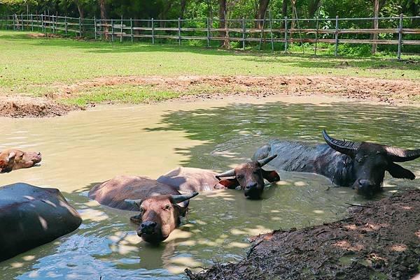
<svg viewBox="0 0 420 280">
<path fill-rule="evenodd" d="M 185 216 L 188 207 L 187 200 L 197 194 L 151 196 L 144 200 L 125 200 L 125 202 L 139 207 L 140 214 L 132 217 L 132 221 L 140 223 L 137 235 L 151 243 L 166 240 L 169 234 L 179 226 L 180 217 Z"/>
</svg>

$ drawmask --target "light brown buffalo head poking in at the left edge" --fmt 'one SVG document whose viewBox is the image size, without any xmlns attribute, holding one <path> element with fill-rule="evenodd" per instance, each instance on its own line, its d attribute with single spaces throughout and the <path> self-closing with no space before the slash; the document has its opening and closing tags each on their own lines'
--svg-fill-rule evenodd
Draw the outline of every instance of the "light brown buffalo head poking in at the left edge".
<svg viewBox="0 0 420 280">
<path fill-rule="evenodd" d="M 0 173 L 20 168 L 30 168 L 41 162 L 40 152 L 22 152 L 18 149 L 6 149 L 0 152 Z"/>
</svg>

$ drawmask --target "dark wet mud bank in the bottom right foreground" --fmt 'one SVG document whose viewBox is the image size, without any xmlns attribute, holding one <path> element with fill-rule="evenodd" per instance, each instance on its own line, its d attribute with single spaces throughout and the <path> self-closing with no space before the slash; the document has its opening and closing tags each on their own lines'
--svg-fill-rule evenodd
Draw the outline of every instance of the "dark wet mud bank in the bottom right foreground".
<svg viewBox="0 0 420 280">
<path fill-rule="evenodd" d="M 193 274 L 204 279 L 410 279 L 419 273 L 420 191 L 358 207 L 349 219 L 253 239 L 239 263 Z"/>
</svg>

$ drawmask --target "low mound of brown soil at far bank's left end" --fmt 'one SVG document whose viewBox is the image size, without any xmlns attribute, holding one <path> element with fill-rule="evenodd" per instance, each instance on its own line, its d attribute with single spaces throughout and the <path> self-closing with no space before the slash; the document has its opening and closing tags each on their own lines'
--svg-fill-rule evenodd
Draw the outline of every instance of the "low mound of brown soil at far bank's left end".
<svg viewBox="0 0 420 280">
<path fill-rule="evenodd" d="M 45 98 L 0 96 L 0 117 L 57 117 L 73 110 L 80 108 Z"/>
</svg>

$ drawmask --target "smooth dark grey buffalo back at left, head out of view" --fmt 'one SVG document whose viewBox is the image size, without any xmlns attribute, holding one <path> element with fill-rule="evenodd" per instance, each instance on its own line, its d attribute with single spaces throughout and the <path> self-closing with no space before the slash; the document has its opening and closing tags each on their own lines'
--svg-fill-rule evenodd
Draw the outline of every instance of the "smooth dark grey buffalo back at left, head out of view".
<svg viewBox="0 0 420 280">
<path fill-rule="evenodd" d="M 76 230 L 82 219 L 57 189 L 0 187 L 0 261 Z"/>
</svg>

